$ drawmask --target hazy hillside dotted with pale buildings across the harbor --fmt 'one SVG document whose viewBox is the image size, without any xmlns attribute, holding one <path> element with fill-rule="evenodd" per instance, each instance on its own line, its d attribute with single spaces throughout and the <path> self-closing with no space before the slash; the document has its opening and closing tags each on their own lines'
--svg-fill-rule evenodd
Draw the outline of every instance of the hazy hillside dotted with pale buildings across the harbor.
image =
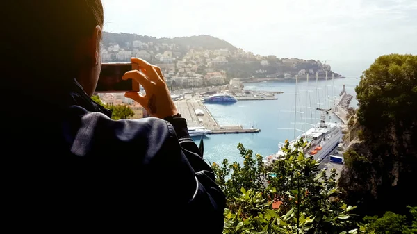
<svg viewBox="0 0 417 234">
<path fill-rule="evenodd" d="M 159 65 L 167 77 L 197 77 L 223 74 L 230 78 L 295 79 L 325 72 L 331 77 L 330 65 L 317 60 L 277 58 L 256 55 L 234 47 L 229 42 L 210 35 L 192 37 L 156 38 L 129 33 L 103 33 L 104 62 L 127 62 L 138 57 Z M 343 78 L 335 74 L 335 78 Z"/>
</svg>

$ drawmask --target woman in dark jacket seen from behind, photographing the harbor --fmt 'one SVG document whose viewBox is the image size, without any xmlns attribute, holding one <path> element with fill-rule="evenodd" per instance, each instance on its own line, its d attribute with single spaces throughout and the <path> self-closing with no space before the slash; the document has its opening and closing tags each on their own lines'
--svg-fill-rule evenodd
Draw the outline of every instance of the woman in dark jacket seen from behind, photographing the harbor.
<svg viewBox="0 0 417 234">
<path fill-rule="evenodd" d="M 123 227 L 149 233 L 221 233 L 224 194 L 161 69 L 132 58 L 143 74 L 123 76 L 145 88 L 145 97 L 126 97 L 152 118 L 116 122 L 90 99 L 101 69 L 101 1 L 10 1 L 1 8 L 1 91 L 13 97 L 1 109 L 10 221 L 98 230 L 123 219 Z"/>
</svg>

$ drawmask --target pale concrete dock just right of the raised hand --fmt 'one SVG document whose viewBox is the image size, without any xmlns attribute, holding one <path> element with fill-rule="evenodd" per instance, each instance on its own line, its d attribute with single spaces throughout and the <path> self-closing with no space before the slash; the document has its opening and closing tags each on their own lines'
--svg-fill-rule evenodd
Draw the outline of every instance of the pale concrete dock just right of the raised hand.
<svg viewBox="0 0 417 234">
<path fill-rule="evenodd" d="M 188 127 L 204 126 L 211 130 L 211 134 L 259 133 L 261 131 L 258 128 L 245 129 L 242 126 L 220 126 L 199 98 L 190 97 L 174 101 L 174 103 L 178 112 L 187 120 Z M 197 115 L 196 110 L 202 112 L 203 115 Z"/>
</svg>

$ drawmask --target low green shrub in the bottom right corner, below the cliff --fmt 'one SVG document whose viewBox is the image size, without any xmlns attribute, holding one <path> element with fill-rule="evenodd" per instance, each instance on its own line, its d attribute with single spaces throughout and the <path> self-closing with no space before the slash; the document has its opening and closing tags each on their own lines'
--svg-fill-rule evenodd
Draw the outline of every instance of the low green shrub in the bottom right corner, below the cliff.
<svg viewBox="0 0 417 234">
<path fill-rule="evenodd" d="M 375 234 L 411 234 L 417 233 L 417 207 L 408 207 L 412 216 L 411 224 L 407 222 L 405 215 L 398 215 L 387 211 L 382 217 L 366 216 L 364 222 L 368 222 L 366 232 Z"/>
</svg>

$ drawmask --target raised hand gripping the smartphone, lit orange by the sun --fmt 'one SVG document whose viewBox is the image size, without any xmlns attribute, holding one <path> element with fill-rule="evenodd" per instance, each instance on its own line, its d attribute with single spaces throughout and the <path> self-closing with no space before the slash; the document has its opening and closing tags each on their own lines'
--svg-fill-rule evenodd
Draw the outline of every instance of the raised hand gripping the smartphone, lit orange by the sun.
<svg viewBox="0 0 417 234">
<path fill-rule="evenodd" d="M 140 58 L 131 58 L 131 61 L 139 65 L 141 72 L 138 70 L 126 72 L 123 79 L 134 79 L 143 86 L 146 94 L 142 96 L 138 92 L 126 92 L 124 97 L 137 101 L 152 117 L 164 119 L 177 115 L 177 107 L 172 101 L 161 69 Z"/>
</svg>

